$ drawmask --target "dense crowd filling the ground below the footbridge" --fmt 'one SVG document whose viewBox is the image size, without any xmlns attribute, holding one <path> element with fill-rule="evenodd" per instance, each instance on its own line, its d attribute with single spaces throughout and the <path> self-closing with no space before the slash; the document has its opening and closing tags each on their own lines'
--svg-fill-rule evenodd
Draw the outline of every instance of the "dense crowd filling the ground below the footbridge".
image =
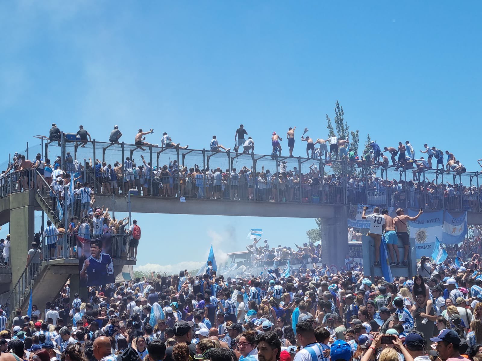
<svg viewBox="0 0 482 361">
<path fill-rule="evenodd" d="M 248 248 L 269 249 L 258 242 Z M 302 257 L 314 257 L 310 246 L 298 247 Z M 422 257 L 413 279 L 391 283 L 372 283 L 350 262 L 338 272 L 302 264 L 233 278 L 208 262 L 199 275 L 152 272 L 85 297 L 67 284 L 45 310 L 17 309 L 9 328 L 4 306 L 0 348 L 25 360 L 478 361 L 482 257 L 464 261 L 467 251 L 442 264 Z"/>
</svg>

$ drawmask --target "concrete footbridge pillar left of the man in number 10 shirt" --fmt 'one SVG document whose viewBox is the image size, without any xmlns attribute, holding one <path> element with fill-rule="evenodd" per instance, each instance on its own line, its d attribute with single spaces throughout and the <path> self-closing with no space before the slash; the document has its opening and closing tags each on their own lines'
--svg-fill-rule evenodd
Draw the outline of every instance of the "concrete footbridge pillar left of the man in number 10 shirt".
<svg viewBox="0 0 482 361">
<path fill-rule="evenodd" d="M 328 267 L 345 263 L 348 254 L 348 207 L 336 207 L 336 218 L 321 219 L 321 262 Z"/>
</svg>

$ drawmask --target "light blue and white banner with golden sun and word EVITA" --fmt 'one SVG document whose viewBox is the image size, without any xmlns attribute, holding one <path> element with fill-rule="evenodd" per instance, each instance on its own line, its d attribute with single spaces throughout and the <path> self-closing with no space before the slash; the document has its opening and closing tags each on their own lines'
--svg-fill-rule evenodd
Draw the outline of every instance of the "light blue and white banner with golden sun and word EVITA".
<svg viewBox="0 0 482 361">
<path fill-rule="evenodd" d="M 415 217 L 418 211 L 409 209 L 408 216 Z M 416 257 L 430 257 L 436 238 L 442 239 L 443 211 L 424 212 L 416 220 L 409 221 L 410 237 L 415 238 Z"/>
</svg>

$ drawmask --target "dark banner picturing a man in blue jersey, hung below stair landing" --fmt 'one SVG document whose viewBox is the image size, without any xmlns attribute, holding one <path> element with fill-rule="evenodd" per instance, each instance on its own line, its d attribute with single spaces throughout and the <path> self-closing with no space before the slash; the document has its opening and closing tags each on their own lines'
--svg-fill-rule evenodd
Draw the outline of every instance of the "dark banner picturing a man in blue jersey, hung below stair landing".
<svg viewBox="0 0 482 361">
<path fill-rule="evenodd" d="M 101 286 L 114 283 L 110 233 L 96 239 L 75 236 L 79 257 L 80 287 Z"/>
</svg>

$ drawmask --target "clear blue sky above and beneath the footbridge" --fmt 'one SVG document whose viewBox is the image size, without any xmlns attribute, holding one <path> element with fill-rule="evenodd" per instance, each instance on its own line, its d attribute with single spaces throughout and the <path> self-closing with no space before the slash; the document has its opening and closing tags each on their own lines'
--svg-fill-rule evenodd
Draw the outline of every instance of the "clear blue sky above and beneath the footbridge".
<svg viewBox="0 0 482 361">
<path fill-rule="evenodd" d="M 243 123 L 257 153 L 268 154 L 272 131 L 308 127 L 311 137 L 326 137 L 325 114 L 333 117 L 339 100 L 361 143 L 367 132 L 381 146 L 410 140 L 418 151 L 428 142 L 477 170 L 481 7 L 477 1 L 2 2 L 0 152 L 6 159 L 23 151 L 52 122 L 72 132 L 82 124 L 98 141 L 114 124 L 125 142 L 139 127 L 152 127 L 148 140 L 160 142 L 167 131 L 197 149 L 208 147 L 213 134 L 232 146 Z M 304 154 L 298 140 L 295 154 Z M 214 232 L 229 235 L 220 252 L 239 250 L 250 227 L 263 228 L 272 244 L 302 242 L 314 224 L 136 217 L 145 239 L 152 235 L 145 242 L 161 242 L 170 254 L 167 261 L 141 251 L 139 264 L 199 260 Z M 168 225 L 167 232 L 158 224 Z M 188 245 L 183 252 L 179 238 Z"/>
</svg>

